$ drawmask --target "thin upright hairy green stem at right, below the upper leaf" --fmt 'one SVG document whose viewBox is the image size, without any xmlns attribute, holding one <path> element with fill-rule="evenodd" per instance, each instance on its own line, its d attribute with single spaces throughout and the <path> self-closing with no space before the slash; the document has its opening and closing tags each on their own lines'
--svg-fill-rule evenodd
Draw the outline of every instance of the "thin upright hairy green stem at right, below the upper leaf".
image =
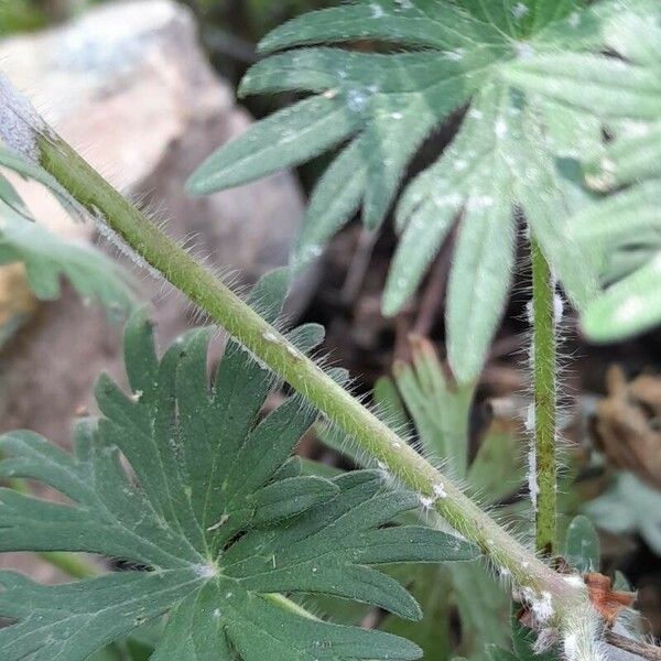
<svg viewBox="0 0 661 661">
<path fill-rule="evenodd" d="M 546 258 L 534 239 L 532 261 L 532 371 L 534 395 L 535 549 L 552 555 L 556 549 L 556 338 L 555 285 Z"/>
</svg>

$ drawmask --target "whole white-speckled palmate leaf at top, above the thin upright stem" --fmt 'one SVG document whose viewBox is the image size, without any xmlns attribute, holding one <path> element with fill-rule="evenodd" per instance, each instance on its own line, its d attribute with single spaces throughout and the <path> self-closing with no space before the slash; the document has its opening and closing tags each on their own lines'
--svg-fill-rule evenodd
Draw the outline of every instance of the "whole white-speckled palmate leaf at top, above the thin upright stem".
<svg viewBox="0 0 661 661">
<path fill-rule="evenodd" d="M 524 210 L 571 301 L 583 307 L 596 291 L 592 254 L 567 240 L 566 216 L 583 199 L 554 155 L 581 155 L 599 142 L 600 127 L 588 113 L 564 108 L 561 121 L 557 102 L 529 97 L 524 86 L 513 94 L 502 74 L 535 53 L 599 51 L 613 14 L 622 13 L 627 7 L 611 0 L 358 0 L 304 14 L 262 41 L 262 52 L 284 52 L 252 67 L 241 91 L 312 96 L 220 149 L 189 187 L 210 193 L 338 148 L 292 254 L 301 268 L 358 208 L 366 226 L 377 228 L 419 147 L 465 110 L 454 142 L 398 207 L 403 235 L 383 310 L 394 314 L 414 292 L 460 216 L 447 328 L 452 368 L 468 382 L 505 307 L 514 209 Z M 366 40 L 382 42 L 386 52 L 319 45 Z"/>
</svg>

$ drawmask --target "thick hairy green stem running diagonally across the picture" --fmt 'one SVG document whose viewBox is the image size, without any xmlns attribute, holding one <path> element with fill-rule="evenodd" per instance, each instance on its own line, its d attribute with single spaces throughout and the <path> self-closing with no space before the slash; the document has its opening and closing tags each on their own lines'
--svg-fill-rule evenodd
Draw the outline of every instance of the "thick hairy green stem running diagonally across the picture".
<svg viewBox="0 0 661 661">
<path fill-rule="evenodd" d="M 1 78 L 0 75 L 0 83 Z M 0 93 L 7 94 L 8 89 L 11 93 L 7 83 L 4 89 L 0 86 Z M 3 102 L 9 104 L 10 110 L 17 108 L 15 112 L 21 115 L 22 106 L 12 104 L 11 98 L 7 101 L 0 94 L 0 108 Z M 313 403 L 361 452 L 382 462 L 393 477 L 416 491 L 421 505 L 433 507 L 458 532 L 476 543 L 497 567 L 512 577 L 524 595 L 531 599 L 550 597 L 554 620 L 562 625 L 567 617 L 574 618 L 579 609 L 592 611 L 583 587 L 567 582 L 541 562 L 458 486 L 124 199 L 66 142 L 43 122 L 31 122 L 31 118 L 32 115 L 20 118 L 33 137 L 30 153 L 35 151 L 36 160 L 72 197 L 151 269 L 186 294 L 257 359 Z M 0 138 L 6 138 L 1 123 Z M 595 652 L 592 658 L 598 659 L 598 654 Z"/>
</svg>

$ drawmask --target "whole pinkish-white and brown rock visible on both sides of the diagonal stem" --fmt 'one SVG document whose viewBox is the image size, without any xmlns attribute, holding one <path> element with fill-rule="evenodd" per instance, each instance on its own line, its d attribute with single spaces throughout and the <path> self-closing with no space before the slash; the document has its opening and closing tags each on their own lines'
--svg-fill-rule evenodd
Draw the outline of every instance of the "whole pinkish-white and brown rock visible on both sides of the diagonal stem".
<svg viewBox="0 0 661 661">
<path fill-rule="evenodd" d="M 188 174 L 251 122 L 208 66 L 187 10 L 167 0 L 105 6 L 62 28 L 0 43 L 0 63 L 66 140 L 166 223 L 169 234 L 194 242 L 213 268 L 236 270 L 250 282 L 286 263 L 303 214 L 290 174 L 209 197 L 184 194 Z M 96 239 L 91 224 L 72 224 L 42 188 L 23 182 L 20 188 L 51 228 Z M 162 343 L 195 323 L 180 295 L 147 275 L 139 280 Z M 307 275 L 290 312 L 313 290 Z M 68 291 L 41 306 L 0 355 L 0 431 L 30 427 L 66 443 L 75 411 L 93 409 L 100 370 L 122 371 L 119 335 Z"/>
</svg>

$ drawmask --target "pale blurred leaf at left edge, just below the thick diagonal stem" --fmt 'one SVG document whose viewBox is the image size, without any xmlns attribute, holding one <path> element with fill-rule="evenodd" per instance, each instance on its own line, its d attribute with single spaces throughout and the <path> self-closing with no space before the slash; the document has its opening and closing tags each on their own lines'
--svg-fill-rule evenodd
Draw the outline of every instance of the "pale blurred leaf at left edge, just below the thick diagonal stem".
<svg viewBox="0 0 661 661">
<path fill-rule="evenodd" d="M 69 215 L 80 209 L 40 167 L 0 148 L 0 166 L 45 185 Z M 12 184 L 0 173 L 0 264 L 22 262 L 30 288 L 44 301 L 59 297 L 65 277 L 84 299 L 97 300 L 112 317 L 124 316 L 136 303 L 133 283 L 111 259 L 85 243 L 67 241 L 34 221 Z"/>
</svg>

